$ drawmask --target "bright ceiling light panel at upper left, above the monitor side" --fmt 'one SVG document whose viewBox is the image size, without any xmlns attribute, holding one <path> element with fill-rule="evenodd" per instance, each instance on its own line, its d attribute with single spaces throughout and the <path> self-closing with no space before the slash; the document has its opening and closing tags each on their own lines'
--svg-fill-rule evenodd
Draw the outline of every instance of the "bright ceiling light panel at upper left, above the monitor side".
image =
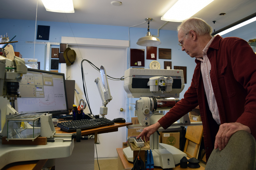
<svg viewBox="0 0 256 170">
<path fill-rule="evenodd" d="M 74 13 L 73 0 L 42 0 L 46 11 Z"/>
</svg>

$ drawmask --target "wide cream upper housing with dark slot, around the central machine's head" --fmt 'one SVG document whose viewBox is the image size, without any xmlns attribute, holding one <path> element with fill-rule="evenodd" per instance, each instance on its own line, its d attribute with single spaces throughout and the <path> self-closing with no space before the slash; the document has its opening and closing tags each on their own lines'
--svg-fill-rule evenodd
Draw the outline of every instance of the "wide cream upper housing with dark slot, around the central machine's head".
<svg viewBox="0 0 256 170">
<path fill-rule="evenodd" d="M 151 92 L 148 81 L 152 77 L 171 77 L 172 90 L 169 92 Z M 128 69 L 124 72 L 124 90 L 128 98 L 140 98 L 154 96 L 159 98 L 179 98 L 180 92 L 184 89 L 183 70 L 165 69 Z"/>
</svg>

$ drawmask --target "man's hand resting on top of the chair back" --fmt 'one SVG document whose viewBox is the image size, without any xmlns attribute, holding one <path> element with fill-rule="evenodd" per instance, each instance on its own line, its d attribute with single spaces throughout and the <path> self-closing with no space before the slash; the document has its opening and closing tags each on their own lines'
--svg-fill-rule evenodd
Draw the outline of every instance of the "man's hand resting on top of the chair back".
<svg viewBox="0 0 256 170">
<path fill-rule="evenodd" d="M 224 123 L 220 125 L 219 131 L 215 137 L 214 149 L 219 147 L 219 150 L 227 146 L 230 137 L 236 133 L 238 130 L 245 130 L 251 133 L 251 129 L 241 123 Z"/>
</svg>

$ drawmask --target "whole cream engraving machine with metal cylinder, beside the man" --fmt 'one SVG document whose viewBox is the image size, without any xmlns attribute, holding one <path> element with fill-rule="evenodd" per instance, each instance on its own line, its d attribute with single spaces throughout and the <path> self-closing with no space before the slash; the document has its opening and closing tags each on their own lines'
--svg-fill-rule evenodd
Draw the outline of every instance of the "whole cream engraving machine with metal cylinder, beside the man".
<svg viewBox="0 0 256 170">
<path fill-rule="evenodd" d="M 140 125 L 129 128 L 145 128 L 156 123 L 164 115 L 156 111 L 170 110 L 179 101 L 180 92 L 184 89 L 183 70 L 157 69 L 128 69 L 124 73 L 124 90 L 129 98 L 136 100 L 135 113 Z M 150 111 L 153 113 L 150 114 Z M 180 123 L 173 123 L 172 130 L 181 129 L 180 126 L 190 124 L 188 114 L 180 119 Z M 167 130 L 167 129 L 166 129 Z M 159 131 L 166 131 L 159 128 Z M 170 129 L 168 129 L 170 131 Z M 180 163 L 180 159 L 187 155 L 168 144 L 159 144 L 159 135 L 155 132 L 150 136 L 150 149 L 153 153 L 154 165 L 162 168 L 173 168 Z M 130 147 L 124 149 L 130 152 Z M 128 155 L 128 154 L 127 154 Z M 129 159 L 128 159 L 129 160 Z"/>
</svg>

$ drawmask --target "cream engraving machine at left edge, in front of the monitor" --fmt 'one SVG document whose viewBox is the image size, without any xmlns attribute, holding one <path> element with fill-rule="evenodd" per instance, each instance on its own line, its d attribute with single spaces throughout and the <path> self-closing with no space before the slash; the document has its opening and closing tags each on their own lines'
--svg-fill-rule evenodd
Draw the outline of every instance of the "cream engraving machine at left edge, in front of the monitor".
<svg viewBox="0 0 256 170">
<path fill-rule="evenodd" d="M 74 148 L 73 139 L 81 139 L 81 132 L 56 134 L 52 114 L 42 113 L 40 118 L 41 137 L 47 137 L 46 145 L 2 144 L 2 140 L 6 140 L 3 137 L 9 135 L 5 121 L 12 116 L 19 116 L 14 108 L 14 101 L 20 96 L 19 82 L 22 79 L 22 74 L 26 73 L 27 66 L 23 59 L 14 56 L 14 59 L 10 60 L 0 55 L 0 169 L 13 162 L 68 157 Z M 5 99 L 6 97 L 9 101 Z M 26 122 L 23 126 L 31 128 Z"/>
</svg>

